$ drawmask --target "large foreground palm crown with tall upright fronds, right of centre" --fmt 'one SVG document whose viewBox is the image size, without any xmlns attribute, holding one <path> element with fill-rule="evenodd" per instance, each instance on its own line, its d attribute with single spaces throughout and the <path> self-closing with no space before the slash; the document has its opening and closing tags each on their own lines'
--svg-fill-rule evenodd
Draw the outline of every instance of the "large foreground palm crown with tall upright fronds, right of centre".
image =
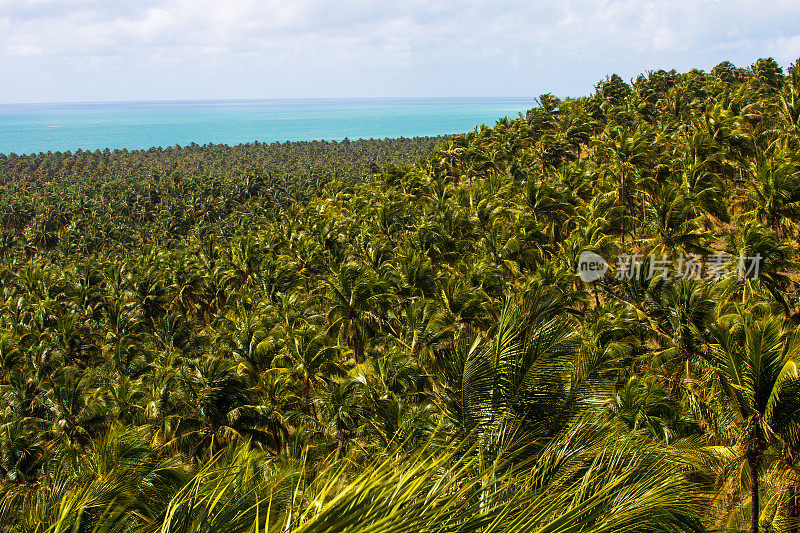
<svg viewBox="0 0 800 533">
<path fill-rule="evenodd" d="M 464 436 L 552 436 L 582 402 L 592 369 L 576 364 L 574 325 L 554 291 L 510 300 L 490 338 L 465 331 L 433 361 L 434 397 Z"/>
</svg>

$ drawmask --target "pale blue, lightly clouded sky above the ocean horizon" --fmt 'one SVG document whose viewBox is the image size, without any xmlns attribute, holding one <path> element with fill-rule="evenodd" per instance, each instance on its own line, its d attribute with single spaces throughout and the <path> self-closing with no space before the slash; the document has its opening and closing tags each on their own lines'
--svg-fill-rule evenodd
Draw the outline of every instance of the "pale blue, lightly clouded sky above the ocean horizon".
<svg viewBox="0 0 800 533">
<path fill-rule="evenodd" d="M 0 103 L 589 94 L 800 57 L 784 0 L 0 0 Z"/>
</svg>

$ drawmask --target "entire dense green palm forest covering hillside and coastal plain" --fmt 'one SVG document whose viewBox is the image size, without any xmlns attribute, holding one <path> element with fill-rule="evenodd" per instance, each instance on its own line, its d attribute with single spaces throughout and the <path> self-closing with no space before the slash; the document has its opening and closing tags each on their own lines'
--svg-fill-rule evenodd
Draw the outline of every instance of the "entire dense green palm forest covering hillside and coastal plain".
<svg viewBox="0 0 800 533">
<path fill-rule="evenodd" d="M 799 531 L 800 67 L 536 104 L 0 156 L 2 531 Z"/>
</svg>

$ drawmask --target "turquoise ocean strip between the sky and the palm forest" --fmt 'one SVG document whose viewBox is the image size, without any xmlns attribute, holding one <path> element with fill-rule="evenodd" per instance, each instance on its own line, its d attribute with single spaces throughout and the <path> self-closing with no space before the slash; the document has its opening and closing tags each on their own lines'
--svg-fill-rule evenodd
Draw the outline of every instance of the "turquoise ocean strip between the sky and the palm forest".
<svg viewBox="0 0 800 533">
<path fill-rule="evenodd" d="M 532 98 L 0 104 L 0 153 L 463 133 Z"/>
</svg>

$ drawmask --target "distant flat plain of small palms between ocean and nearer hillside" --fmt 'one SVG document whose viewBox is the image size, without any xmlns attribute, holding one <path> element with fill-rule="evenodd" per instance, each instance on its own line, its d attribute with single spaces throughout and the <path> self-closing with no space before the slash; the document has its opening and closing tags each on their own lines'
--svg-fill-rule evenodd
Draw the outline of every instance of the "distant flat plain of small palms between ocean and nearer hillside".
<svg viewBox="0 0 800 533">
<path fill-rule="evenodd" d="M 93 253 L 164 242 L 194 226 L 230 234 L 333 180 L 352 183 L 389 162 L 413 163 L 445 139 L 0 154 L 0 255 L 17 244 Z"/>
</svg>

